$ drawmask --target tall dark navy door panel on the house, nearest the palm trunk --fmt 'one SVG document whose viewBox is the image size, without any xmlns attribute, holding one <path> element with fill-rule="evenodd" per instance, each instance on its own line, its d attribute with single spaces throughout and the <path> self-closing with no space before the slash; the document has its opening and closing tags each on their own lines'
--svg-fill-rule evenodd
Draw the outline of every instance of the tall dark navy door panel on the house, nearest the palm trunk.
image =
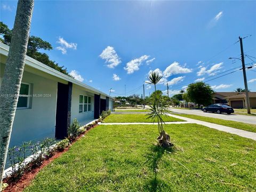
<svg viewBox="0 0 256 192">
<path fill-rule="evenodd" d="M 72 83 L 68 85 L 58 83 L 57 108 L 55 122 L 55 138 L 64 139 L 67 137 L 68 126 L 70 125 Z"/>
</svg>

